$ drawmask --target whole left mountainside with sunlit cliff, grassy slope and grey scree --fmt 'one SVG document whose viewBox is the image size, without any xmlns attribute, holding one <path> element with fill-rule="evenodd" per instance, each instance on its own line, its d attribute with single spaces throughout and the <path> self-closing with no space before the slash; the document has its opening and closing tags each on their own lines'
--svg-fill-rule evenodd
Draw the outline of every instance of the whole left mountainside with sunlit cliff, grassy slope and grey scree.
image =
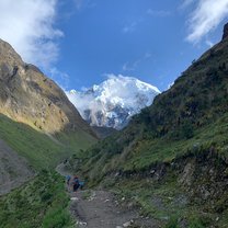
<svg viewBox="0 0 228 228">
<path fill-rule="evenodd" d="M 64 91 L 0 39 L 0 192 L 96 140 Z M 26 159 L 26 161 L 25 161 Z"/>
</svg>

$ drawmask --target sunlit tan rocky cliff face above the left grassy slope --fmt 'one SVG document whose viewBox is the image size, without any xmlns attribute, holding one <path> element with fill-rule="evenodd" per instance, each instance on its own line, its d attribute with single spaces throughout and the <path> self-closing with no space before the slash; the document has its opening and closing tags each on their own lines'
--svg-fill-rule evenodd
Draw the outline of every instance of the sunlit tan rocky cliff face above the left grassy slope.
<svg viewBox="0 0 228 228">
<path fill-rule="evenodd" d="M 50 134 L 64 129 L 93 134 L 61 89 L 1 39 L 0 113 Z"/>
</svg>

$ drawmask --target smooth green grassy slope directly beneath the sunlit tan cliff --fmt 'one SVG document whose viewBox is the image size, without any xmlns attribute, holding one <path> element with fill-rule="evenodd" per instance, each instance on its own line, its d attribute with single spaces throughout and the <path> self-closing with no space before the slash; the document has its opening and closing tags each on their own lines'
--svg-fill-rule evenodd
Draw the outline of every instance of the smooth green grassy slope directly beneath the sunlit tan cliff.
<svg viewBox="0 0 228 228">
<path fill-rule="evenodd" d="M 59 133 L 57 140 L 4 115 L 0 115 L 0 138 L 36 170 L 55 168 L 62 159 L 94 142 L 90 135 L 77 133 Z"/>
</svg>

